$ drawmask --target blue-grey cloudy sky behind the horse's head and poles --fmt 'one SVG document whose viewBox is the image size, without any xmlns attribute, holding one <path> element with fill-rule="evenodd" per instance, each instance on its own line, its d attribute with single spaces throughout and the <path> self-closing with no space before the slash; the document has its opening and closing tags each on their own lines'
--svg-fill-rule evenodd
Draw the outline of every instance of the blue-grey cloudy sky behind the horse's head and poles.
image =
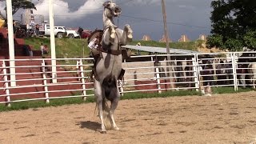
<svg viewBox="0 0 256 144">
<path fill-rule="evenodd" d="M 48 0 L 32 0 L 37 10 L 48 19 Z M 83 29 L 102 29 L 102 3 L 106 0 L 54 0 L 54 25 Z M 134 31 L 134 39 L 149 35 L 158 41 L 164 34 L 161 0 L 113 0 L 122 8 L 122 14 L 114 22 L 119 28 L 129 24 Z M 166 21 L 170 39 L 177 42 L 182 34 L 191 40 L 200 34 L 210 34 L 210 2 L 212 0 L 165 0 Z M 0 10 L 4 8 L 0 2 Z M 14 19 L 20 20 L 19 10 Z"/>
</svg>

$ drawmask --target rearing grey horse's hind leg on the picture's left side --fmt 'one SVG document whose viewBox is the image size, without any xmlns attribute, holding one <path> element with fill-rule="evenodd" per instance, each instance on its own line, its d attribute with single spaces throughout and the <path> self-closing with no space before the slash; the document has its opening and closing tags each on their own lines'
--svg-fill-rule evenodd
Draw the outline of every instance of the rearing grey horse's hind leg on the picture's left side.
<svg viewBox="0 0 256 144">
<path fill-rule="evenodd" d="M 95 79 L 94 79 L 94 95 L 95 95 L 96 103 L 98 106 L 98 117 L 102 122 L 102 133 L 106 133 L 106 127 L 104 125 L 103 110 L 102 110 L 102 102 L 103 102 L 102 86 L 100 82 L 98 82 Z"/>
</svg>

